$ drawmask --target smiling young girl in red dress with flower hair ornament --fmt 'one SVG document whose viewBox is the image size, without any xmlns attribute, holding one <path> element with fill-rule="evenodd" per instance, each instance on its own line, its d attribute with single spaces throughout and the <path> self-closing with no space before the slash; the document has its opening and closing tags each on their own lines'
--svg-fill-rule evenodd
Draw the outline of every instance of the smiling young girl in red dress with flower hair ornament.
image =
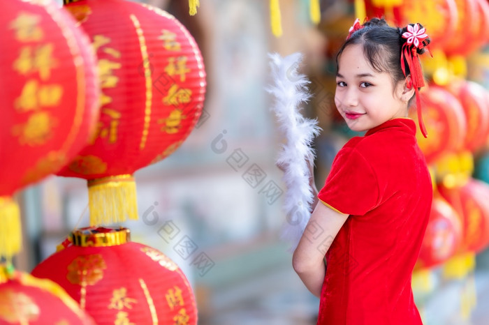
<svg viewBox="0 0 489 325">
<path fill-rule="evenodd" d="M 429 43 L 419 24 L 356 20 L 337 54 L 336 107 L 351 130 L 367 133 L 337 153 L 293 254 L 293 268 L 321 298 L 317 324 L 422 324 L 411 275 L 432 184 L 407 110 L 417 97 L 426 136 L 417 55 Z"/>
</svg>

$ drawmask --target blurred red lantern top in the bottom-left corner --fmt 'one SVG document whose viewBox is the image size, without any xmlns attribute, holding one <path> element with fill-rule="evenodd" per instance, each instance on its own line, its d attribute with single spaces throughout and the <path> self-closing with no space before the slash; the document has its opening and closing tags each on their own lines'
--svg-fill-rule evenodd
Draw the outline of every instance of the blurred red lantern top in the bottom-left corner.
<svg viewBox="0 0 489 325">
<path fill-rule="evenodd" d="M 0 325 L 95 324 L 59 285 L 0 266 Z"/>
</svg>

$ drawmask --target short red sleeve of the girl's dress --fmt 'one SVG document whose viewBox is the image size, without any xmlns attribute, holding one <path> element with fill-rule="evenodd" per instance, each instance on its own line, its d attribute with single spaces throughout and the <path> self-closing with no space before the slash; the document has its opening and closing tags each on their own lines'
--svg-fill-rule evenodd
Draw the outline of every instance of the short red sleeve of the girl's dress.
<svg viewBox="0 0 489 325">
<path fill-rule="evenodd" d="M 363 216 L 379 202 L 377 176 L 360 152 L 344 148 L 337 153 L 318 198 L 340 213 Z"/>
</svg>

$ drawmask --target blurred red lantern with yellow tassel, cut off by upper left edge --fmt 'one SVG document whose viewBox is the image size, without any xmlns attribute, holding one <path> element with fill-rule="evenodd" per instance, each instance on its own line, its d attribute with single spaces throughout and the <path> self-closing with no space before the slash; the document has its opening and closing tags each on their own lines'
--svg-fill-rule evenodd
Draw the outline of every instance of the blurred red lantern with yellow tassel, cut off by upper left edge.
<svg viewBox="0 0 489 325">
<path fill-rule="evenodd" d="M 48 0 L 4 1 L 0 12 L 0 257 L 20 249 L 11 195 L 66 165 L 98 117 L 89 40 Z"/>
</svg>

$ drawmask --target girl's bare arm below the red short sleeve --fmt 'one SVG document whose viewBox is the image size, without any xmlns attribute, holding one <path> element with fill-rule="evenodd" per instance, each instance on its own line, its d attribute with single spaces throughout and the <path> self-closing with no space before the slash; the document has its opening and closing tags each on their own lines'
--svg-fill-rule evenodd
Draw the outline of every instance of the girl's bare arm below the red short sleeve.
<svg viewBox="0 0 489 325">
<path fill-rule="evenodd" d="M 326 275 L 324 255 L 348 216 L 330 209 L 325 204 L 316 204 L 304 234 L 295 248 L 292 257 L 293 269 L 314 296 L 321 296 Z"/>
</svg>

